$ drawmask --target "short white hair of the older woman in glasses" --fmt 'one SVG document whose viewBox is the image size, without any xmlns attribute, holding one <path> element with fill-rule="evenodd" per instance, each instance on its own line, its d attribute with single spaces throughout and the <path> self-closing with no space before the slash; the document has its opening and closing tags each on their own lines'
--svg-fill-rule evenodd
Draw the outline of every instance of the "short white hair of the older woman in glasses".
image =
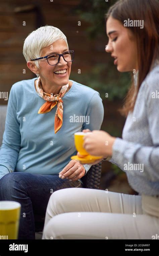
<svg viewBox="0 0 159 256">
<path fill-rule="evenodd" d="M 25 60 L 40 58 L 42 48 L 51 45 L 57 40 L 64 40 L 68 47 L 67 38 L 60 29 L 46 25 L 34 30 L 24 41 L 23 55 Z M 35 61 L 35 64 L 39 68 L 39 61 Z"/>
</svg>

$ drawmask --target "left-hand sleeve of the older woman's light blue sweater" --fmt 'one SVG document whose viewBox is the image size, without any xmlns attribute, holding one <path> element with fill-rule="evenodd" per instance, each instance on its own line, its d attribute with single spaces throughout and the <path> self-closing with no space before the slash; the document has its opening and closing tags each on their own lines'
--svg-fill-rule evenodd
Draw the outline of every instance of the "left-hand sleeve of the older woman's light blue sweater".
<svg viewBox="0 0 159 256">
<path fill-rule="evenodd" d="M 20 124 L 17 120 L 16 109 L 17 100 L 15 86 L 13 85 L 9 94 L 5 131 L 0 150 L 0 178 L 5 174 L 14 171 L 20 150 Z"/>
</svg>

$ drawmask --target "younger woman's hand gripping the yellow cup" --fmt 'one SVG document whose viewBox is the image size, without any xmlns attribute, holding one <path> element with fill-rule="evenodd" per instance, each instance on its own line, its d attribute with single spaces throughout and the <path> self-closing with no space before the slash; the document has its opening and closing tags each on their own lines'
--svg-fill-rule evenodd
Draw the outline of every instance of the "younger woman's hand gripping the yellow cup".
<svg viewBox="0 0 159 256">
<path fill-rule="evenodd" d="M 85 135 L 83 147 L 90 155 L 107 158 L 112 156 L 115 139 L 105 131 L 94 130 Z"/>
</svg>

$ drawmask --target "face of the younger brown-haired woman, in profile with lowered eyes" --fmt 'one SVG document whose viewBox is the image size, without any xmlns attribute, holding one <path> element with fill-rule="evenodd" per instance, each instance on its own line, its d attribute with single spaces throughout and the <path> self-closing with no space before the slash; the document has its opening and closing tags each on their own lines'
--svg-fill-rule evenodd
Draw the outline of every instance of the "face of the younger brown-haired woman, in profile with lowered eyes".
<svg viewBox="0 0 159 256">
<path fill-rule="evenodd" d="M 114 64 L 120 72 L 138 70 L 137 45 L 133 33 L 111 16 L 106 23 L 108 45 L 107 53 L 115 59 Z"/>
</svg>

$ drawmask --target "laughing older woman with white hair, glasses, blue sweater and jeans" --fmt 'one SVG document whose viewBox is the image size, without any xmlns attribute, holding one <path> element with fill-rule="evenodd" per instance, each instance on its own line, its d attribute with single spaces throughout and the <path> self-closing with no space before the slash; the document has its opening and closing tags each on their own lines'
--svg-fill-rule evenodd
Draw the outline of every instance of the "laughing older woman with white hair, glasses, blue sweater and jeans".
<svg viewBox="0 0 159 256">
<path fill-rule="evenodd" d="M 51 193 L 81 186 L 90 165 L 70 161 L 76 154 L 74 132 L 100 129 L 103 105 L 98 92 L 69 80 L 74 51 L 58 28 L 44 26 L 29 34 L 23 55 L 38 78 L 17 82 L 10 90 L 0 151 L 0 200 L 21 204 L 18 238 L 35 239 Z M 69 175 L 59 177 L 62 170 Z"/>
</svg>

